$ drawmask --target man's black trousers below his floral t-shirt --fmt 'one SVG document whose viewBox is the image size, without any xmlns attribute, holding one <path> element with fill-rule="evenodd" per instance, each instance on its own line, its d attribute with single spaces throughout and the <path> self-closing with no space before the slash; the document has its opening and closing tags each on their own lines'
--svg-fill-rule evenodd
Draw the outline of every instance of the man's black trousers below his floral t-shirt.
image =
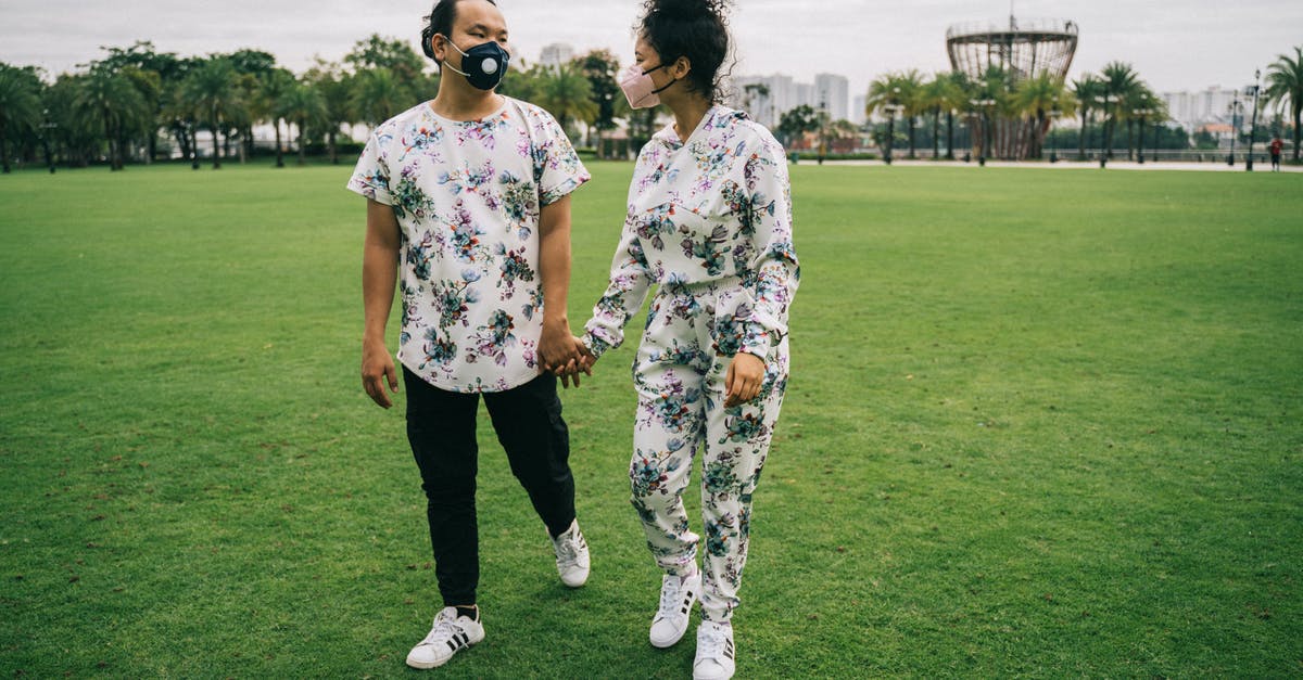
<svg viewBox="0 0 1303 680">
<path fill-rule="evenodd" d="M 407 367 L 403 382 L 407 386 L 408 442 L 421 469 L 421 487 L 427 499 L 439 594 L 446 607 L 474 604 L 480 585 L 476 525 L 480 395 L 439 390 Z M 556 378 L 545 374 L 515 390 L 483 396 L 512 474 L 525 487 L 547 531 L 554 537 L 564 533 L 575 521 L 575 478 Z"/>
</svg>

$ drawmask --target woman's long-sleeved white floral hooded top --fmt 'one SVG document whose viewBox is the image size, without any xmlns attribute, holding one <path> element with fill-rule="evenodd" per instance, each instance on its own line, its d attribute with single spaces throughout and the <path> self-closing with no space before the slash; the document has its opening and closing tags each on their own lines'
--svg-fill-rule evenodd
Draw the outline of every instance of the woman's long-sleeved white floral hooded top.
<svg viewBox="0 0 1303 680">
<path fill-rule="evenodd" d="M 717 106 L 687 143 L 667 126 L 638 154 L 610 285 L 584 343 L 598 356 L 620 345 L 652 284 L 709 284 L 717 352 L 767 360 L 787 336 L 799 283 L 787 155 L 762 125 Z"/>
</svg>

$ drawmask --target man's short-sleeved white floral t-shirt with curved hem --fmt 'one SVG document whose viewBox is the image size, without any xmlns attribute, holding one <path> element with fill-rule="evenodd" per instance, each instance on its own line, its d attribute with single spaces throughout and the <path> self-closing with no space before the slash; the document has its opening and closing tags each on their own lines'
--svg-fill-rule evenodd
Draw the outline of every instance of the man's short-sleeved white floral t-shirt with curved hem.
<svg viewBox="0 0 1303 680">
<path fill-rule="evenodd" d="M 503 99 L 473 121 L 429 102 L 399 113 L 371 133 L 348 181 L 397 216 L 397 358 L 450 392 L 502 392 L 539 375 L 541 208 L 589 180 L 551 115 Z"/>
</svg>

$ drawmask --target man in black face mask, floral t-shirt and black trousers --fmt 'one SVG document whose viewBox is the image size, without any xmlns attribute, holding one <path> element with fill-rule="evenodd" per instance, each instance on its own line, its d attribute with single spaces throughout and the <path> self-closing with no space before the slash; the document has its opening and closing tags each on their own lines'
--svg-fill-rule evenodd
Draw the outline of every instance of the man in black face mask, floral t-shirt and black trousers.
<svg viewBox="0 0 1303 680">
<path fill-rule="evenodd" d="M 444 604 L 407 658 L 416 668 L 442 666 L 485 634 L 476 599 L 481 395 L 552 538 L 562 581 L 579 588 L 589 572 L 556 376 L 546 373 L 581 361 L 566 317 L 569 193 L 589 175 L 547 112 L 494 91 L 509 57 L 493 0 L 438 0 L 427 20 L 422 48 L 439 64 L 438 95 L 379 125 L 348 182 L 367 198 L 362 386 L 383 408 L 392 406 L 386 387 L 397 392 L 384 341 L 395 279 L 403 293 L 408 440 Z"/>
</svg>

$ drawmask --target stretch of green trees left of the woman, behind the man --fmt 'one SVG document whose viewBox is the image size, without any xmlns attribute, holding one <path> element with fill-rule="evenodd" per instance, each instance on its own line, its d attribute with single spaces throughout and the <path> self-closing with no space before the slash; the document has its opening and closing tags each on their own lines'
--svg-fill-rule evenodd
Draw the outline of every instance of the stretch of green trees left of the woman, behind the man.
<svg viewBox="0 0 1303 680">
<path fill-rule="evenodd" d="M 287 146 L 304 164 L 310 147 L 339 163 L 340 135 L 378 125 L 438 91 L 433 64 L 404 40 L 371 35 L 341 61 L 318 59 L 296 74 L 263 51 L 206 57 L 159 52 L 151 42 L 104 48 L 104 56 L 46 82 L 34 66 L 0 63 L 0 164 L 85 167 L 180 158 L 199 165 L 199 133 L 214 168 L 259 150 L 254 128 L 275 130 L 276 167 Z M 500 91 L 550 111 L 567 132 L 615 128 L 628 104 L 616 59 L 594 51 L 559 66 L 513 68 Z M 294 138 L 283 138 L 294 133 Z M 650 134 L 650 133 L 646 133 Z M 211 143 L 211 149 L 207 145 Z M 172 154 L 172 150 L 176 154 Z"/>
</svg>

